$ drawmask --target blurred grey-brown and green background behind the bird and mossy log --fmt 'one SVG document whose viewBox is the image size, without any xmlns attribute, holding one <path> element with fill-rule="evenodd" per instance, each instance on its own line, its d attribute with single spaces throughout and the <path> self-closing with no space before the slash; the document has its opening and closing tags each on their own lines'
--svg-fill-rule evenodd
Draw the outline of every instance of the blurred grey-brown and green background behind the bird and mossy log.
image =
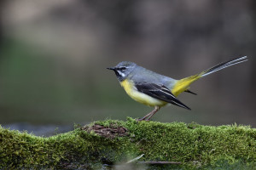
<svg viewBox="0 0 256 170">
<path fill-rule="evenodd" d="M 181 94 L 192 111 L 162 108 L 160 122 L 256 127 L 253 0 L 0 1 L 0 124 L 50 135 L 151 111 L 106 68 L 130 60 L 180 79 L 219 62 L 249 60 Z"/>
</svg>

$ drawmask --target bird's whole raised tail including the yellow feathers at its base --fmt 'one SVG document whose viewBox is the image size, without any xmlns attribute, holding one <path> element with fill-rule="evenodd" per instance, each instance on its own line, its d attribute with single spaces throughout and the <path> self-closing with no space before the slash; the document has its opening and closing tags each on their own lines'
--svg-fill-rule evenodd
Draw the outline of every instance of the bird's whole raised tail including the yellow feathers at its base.
<svg viewBox="0 0 256 170">
<path fill-rule="evenodd" d="M 176 84 L 174 85 L 174 87 L 172 88 L 172 94 L 177 96 L 178 94 L 181 94 L 183 92 L 191 93 L 189 91 L 189 85 L 192 82 L 195 82 L 196 80 L 198 80 L 201 77 L 205 77 L 209 74 L 212 74 L 215 71 L 220 71 L 220 70 L 222 70 L 226 67 L 229 67 L 231 65 L 236 65 L 236 64 L 239 64 L 239 63 L 244 62 L 244 61 L 247 61 L 247 56 L 243 56 L 243 57 L 239 57 L 239 58 L 236 58 L 236 59 L 228 60 L 228 61 L 223 62 L 223 63 L 219 63 L 218 65 L 212 66 L 211 68 L 207 69 L 206 71 L 201 71 L 201 73 L 199 73 L 199 74 L 196 74 L 194 76 L 186 77 L 186 78 L 183 78 L 181 80 L 178 80 L 176 82 Z"/>
</svg>

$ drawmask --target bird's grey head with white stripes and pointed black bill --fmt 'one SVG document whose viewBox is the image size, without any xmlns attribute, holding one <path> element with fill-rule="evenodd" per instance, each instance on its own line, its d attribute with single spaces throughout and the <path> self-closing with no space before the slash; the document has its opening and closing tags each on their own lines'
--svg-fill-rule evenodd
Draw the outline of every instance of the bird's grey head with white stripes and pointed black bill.
<svg viewBox="0 0 256 170">
<path fill-rule="evenodd" d="M 122 61 L 119 62 L 118 65 L 115 65 L 114 67 L 107 68 L 108 70 L 114 71 L 116 77 L 119 79 L 119 82 L 122 82 L 125 80 L 126 77 L 128 77 L 135 69 L 137 65 L 135 63 L 132 63 L 131 61 Z"/>
</svg>

